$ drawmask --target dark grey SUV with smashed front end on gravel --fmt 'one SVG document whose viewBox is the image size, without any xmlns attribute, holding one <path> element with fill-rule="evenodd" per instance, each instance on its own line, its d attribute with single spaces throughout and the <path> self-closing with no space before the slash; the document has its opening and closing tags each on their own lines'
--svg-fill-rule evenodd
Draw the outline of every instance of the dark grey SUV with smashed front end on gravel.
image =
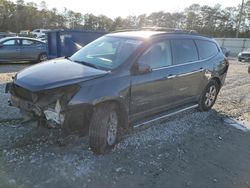
<svg viewBox="0 0 250 188">
<path fill-rule="evenodd" d="M 6 91 L 39 125 L 89 133 L 95 153 L 130 128 L 214 105 L 228 60 L 211 38 L 180 30 L 105 35 L 73 56 L 19 72 Z"/>
</svg>

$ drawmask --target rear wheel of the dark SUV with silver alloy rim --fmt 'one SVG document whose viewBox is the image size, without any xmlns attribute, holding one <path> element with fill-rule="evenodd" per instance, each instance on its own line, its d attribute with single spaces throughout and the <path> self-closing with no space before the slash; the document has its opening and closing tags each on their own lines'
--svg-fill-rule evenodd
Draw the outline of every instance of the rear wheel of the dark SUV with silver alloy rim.
<svg viewBox="0 0 250 188">
<path fill-rule="evenodd" d="M 200 96 L 199 107 L 198 107 L 199 110 L 202 112 L 209 111 L 213 107 L 219 91 L 220 91 L 220 86 L 218 82 L 215 80 L 211 80 L 207 84 L 207 86 L 205 87 Z"/>
</svg>

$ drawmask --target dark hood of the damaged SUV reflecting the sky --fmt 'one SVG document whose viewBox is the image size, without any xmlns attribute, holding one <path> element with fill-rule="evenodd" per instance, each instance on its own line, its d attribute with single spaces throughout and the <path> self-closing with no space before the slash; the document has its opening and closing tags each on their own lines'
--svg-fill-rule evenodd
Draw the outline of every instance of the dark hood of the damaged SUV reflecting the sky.
<svg viewBox="0 0 250 188">
<path fill-rule="evenodd" d="M 14 82 L 36 92 L 76 84 L 106 74 L 108 71 L 98 70 L 67 59 L 54 59 L 20 71 Z"/>
</svg>

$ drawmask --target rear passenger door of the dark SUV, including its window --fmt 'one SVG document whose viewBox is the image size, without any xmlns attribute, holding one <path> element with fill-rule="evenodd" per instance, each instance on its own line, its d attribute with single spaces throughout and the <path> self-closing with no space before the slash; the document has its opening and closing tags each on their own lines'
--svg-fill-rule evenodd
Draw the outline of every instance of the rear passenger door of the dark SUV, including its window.
<svg viewBox="0 0 250 188">
<path fill-rule="evenodd" d="M 196 44 L 192 39 L 173 39 L 173 63 L 175 66 L 175 100 L 177 106 L 197 101 L 203 64 L 199 62 Z"/>
</svg>

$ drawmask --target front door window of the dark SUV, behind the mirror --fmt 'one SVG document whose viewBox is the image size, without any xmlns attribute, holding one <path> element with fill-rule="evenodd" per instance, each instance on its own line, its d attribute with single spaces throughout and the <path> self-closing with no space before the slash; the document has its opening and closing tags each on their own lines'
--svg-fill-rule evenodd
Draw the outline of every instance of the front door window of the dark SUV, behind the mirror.
<svg viewBox="0 0 250 188">
<path fill-rule="evenodd" d="M 147 64 L 152 69 L 166 67 L 172 64 L 170 41 L 153 44 L 139 58 L 139 64 Z"/>
</svg>

